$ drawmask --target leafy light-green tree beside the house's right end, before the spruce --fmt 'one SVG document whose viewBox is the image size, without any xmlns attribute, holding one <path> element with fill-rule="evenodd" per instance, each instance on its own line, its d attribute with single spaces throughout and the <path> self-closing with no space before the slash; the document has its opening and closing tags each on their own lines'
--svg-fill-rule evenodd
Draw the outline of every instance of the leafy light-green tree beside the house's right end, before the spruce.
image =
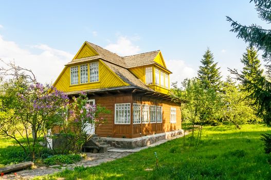
<svg viewBox="0 0 271 180">
<path fill-rule="evenodd" d="M 206 119 L 210 119 L 214 114 L 217 104 L 216 94 L 213 89 L 205 89 L 202 82 L 196 78 L 186 79 L 182 82 L 183 89 L 178 88 L 176 84 L 171 89 L 171 97 L 173 100 L 181 99 L 186 101 L 183 105 L 184 118 L 188 118 L 192 123 L 192 138 L 190 146 L 198 146 L 201 140 L 202 125 L 206 123 Z M 209 108 L 212 107 L 212 108 Z M 194 126 L 200 125 L 197 138 L 194 141 Z"/>
</svg>

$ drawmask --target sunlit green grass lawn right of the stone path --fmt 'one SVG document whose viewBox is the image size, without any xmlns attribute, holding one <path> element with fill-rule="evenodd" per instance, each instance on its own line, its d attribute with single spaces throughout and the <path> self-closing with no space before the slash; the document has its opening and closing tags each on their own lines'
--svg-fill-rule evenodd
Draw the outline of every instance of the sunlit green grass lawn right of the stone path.
<svg viewBox="0 0 271 180">
<path fill-rule="evenodd" d="M 36 179 L 271 179 L 270 157 L 259 140 L 263 132 L 271 133 L 264 125 L 243 125 L 241 130 L 232 125 L 208 126 L 198 148 L 184 146 L 179 138 L 97 167 Z"/>
</svg>

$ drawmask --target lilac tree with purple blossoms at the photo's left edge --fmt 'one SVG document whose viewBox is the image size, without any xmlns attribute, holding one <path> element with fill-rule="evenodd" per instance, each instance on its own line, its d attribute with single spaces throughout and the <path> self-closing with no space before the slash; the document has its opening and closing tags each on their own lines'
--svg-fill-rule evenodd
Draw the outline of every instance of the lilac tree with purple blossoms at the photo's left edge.
<svg viewBox="0 0 271 180">
<path fill-rule="evenodd" d="M 39 141 L 58 124 L 68 97 L 49 85 L 26 82 L 21 77 L 1 84 L 0 134 L 13 138 L 35 160 L 42 149 Z"/>
</svg>

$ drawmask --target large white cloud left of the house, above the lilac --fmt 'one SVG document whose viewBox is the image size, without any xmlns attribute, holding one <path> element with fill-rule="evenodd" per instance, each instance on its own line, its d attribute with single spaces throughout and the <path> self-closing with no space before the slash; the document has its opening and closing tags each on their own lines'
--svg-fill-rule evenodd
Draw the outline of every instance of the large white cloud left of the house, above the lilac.
<svg viewBox="0 0 271 180">
<path fill-rule="evenodd" d="M 0 35 L 0 58 L 5 62 L 14 60 L 16 65 L 31 69 L 41 83 L 54 82 L 64 68 L 64 64 L 73 58 L 70 53 L 53 49 L 45 44 L 31 47 L 32 50 L 39 49 L 41 52 L 34 54 L 15 42 L 5 41 Z"/>
</svg>

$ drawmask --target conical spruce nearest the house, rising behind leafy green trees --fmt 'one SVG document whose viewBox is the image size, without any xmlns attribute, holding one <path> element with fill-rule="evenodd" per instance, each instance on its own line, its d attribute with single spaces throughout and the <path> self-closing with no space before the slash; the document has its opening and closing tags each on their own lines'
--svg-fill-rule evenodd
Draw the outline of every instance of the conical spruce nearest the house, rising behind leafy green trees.
<svg viewBox="0 0 271 180">
<path fill-rule="evenodd" d="M 213 54 L 209 48 L 205 51 L 201 63 L 202 66 L 197 71 L 198 79 L 206 89 L 212 88 L 214 91 L 219 91 L 221 84 L 220 67 L 217 67 L 218 63 L 214 63 Z"/>
</svg>

